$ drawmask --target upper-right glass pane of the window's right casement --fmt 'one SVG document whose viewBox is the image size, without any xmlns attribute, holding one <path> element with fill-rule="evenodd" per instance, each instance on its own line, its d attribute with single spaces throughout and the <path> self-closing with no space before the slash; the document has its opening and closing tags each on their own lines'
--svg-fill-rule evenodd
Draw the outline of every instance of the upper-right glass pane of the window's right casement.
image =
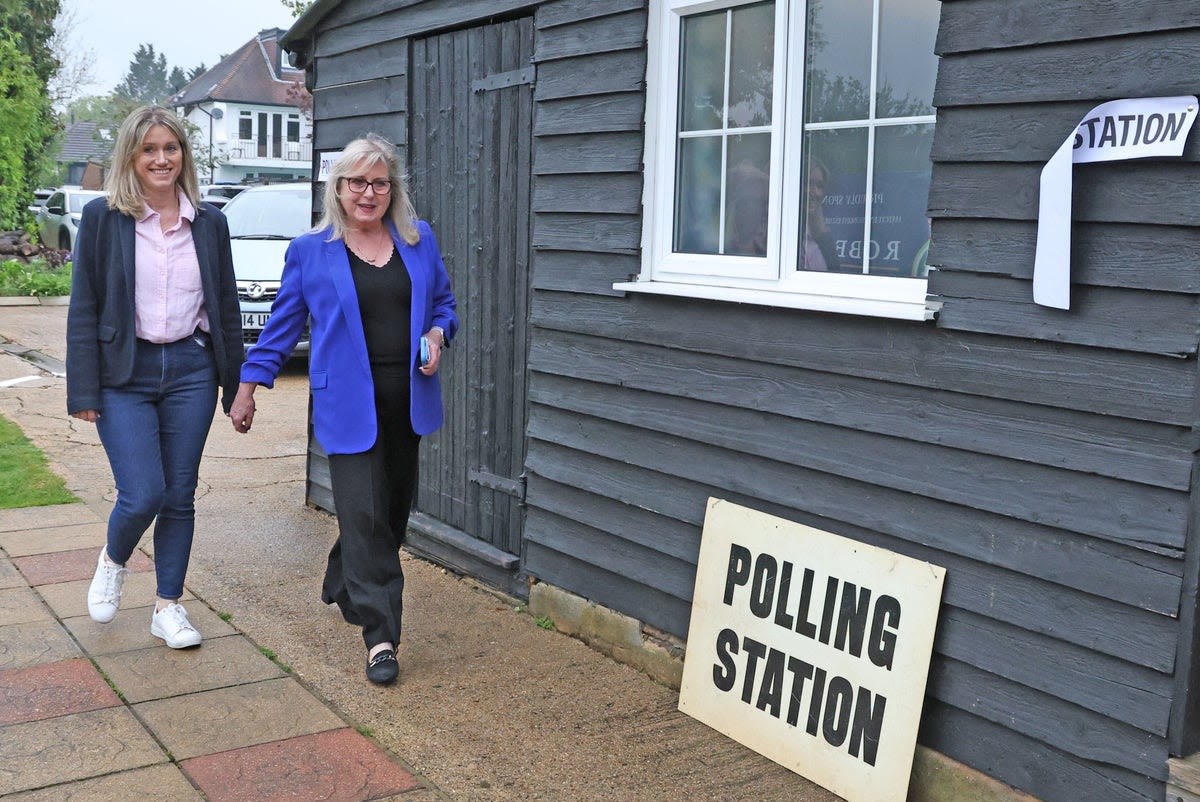
<svg viewBox="0 0 1200 802">
<path fill-rule="evenodd" d="M 934 113 L 937 0 L 881 0 L 880 82 L 875 115 Z"/>
</svg>

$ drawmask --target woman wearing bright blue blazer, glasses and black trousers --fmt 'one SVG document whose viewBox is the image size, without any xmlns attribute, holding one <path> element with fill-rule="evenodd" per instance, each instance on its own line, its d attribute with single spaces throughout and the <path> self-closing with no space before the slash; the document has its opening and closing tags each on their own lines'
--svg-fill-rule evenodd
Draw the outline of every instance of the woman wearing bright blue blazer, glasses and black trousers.
<svg viewBox="0 0 1200 802">
<path fill-rule="evenodd" d="M 395 148 L 377 136 L 346 146 L 323 219 L 288 246 L 271 317 L 241 369 L 238 431 L 250 431 L 254 390 L 274 385 L 306 324 L 313 431 L 338 525 L 322 599 L 362 628 L 367 678 L 389 684 L 418 447 L 442 425 L 438 365 L 458 318 L 433 232 L 416 219 Z"/>
</svg>

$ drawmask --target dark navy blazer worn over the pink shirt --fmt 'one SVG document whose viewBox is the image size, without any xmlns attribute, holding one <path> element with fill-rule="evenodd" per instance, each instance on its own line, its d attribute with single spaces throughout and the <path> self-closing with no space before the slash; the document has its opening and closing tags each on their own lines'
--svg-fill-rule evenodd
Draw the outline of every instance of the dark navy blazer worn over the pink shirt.
<svg viewBox="0 0 1200 802">
<path fill-rule="evenodd" d="M 133 375 L 137 331 L 133 310 L 134 220 L 96 198 L 83 209 L 71 271 L 67 311 L 67 412 L 98 409 L 100 388 L 121 387 Z M 202 203 L 192 221 L 200 264 L 204 311 L 229 413 L 242 360 L 241 309 L 224 215 Z"/>
</svg>

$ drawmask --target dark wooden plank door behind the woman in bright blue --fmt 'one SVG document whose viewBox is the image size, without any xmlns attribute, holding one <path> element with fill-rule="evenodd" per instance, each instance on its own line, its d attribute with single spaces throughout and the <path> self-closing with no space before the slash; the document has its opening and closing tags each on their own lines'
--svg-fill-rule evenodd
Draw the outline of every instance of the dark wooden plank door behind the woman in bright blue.
<svg viewBox="0 0 1200 802">
<path fill-rule="evenodd" d="M 414 40 L 409 71 L 413 200 L 460 319 L 410 546 L 509 589 L 524 520 L 533 30 L 522 18 Z"/>
</svg>

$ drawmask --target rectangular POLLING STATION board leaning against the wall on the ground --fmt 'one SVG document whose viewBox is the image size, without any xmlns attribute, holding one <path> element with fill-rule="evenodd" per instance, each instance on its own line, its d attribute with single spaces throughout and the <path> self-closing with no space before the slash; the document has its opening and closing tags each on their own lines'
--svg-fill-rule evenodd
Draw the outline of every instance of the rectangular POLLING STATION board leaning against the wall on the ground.
<svg viewBox="0 0 1200 802">
<path fill-rule="evenodd" d="M 679 710 L 850 802 L 904 802 L 944 576 L 710 498 Z"/>
</svg>

